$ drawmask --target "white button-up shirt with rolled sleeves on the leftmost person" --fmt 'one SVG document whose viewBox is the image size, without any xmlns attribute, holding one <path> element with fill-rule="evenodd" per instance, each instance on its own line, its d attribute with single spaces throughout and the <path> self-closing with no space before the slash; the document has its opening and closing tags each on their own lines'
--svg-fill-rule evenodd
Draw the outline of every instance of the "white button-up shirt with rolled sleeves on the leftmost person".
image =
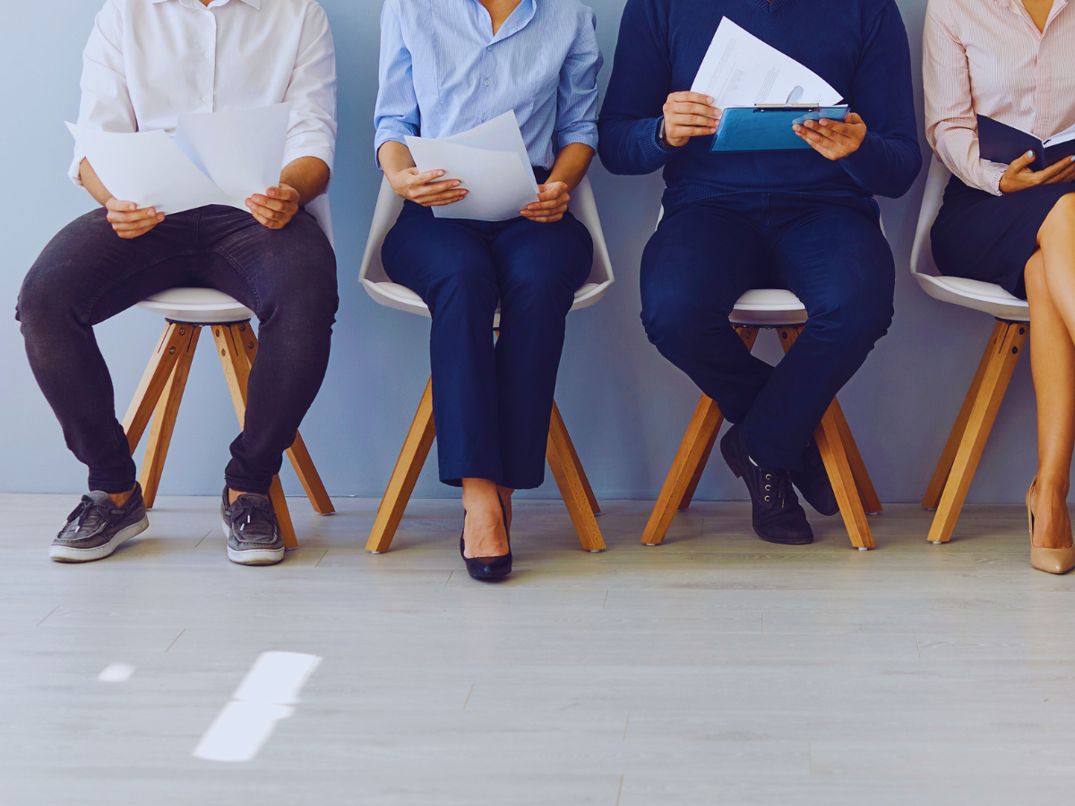
<svg viewBox="0 0 1075 806">
<path fill-rule="evenodd" d="M 314 0 L 108 0 L 83 52 L 78 124 L 102 131 L 172 134 L 183 113 L 284 101 L 284 164 L 318 157 L 331 170 L 335 48 Z M 83 157 L 75 146 L 76 185 Z"/>
</svg>

